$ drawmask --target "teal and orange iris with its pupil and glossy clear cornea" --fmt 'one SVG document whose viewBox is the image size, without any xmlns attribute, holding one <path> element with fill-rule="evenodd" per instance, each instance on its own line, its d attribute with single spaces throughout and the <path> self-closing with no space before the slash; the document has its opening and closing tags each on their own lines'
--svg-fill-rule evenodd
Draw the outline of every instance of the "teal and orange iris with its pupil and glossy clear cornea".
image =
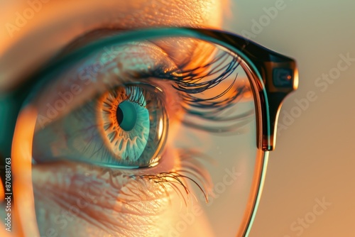
<svg viewBox="0 0 355 237">
<path fill-rule="evenodd" d="M 158 161 L 168 118 L 161 89 L 127 84 L 99 99 L 99 127 L 112 163 L 146 167 Z"/>
</svg>

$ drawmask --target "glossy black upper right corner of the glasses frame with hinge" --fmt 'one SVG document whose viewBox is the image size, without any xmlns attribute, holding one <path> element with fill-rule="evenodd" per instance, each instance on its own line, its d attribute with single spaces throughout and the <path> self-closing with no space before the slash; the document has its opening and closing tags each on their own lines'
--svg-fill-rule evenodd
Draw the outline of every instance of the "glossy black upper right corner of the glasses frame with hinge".
<svg viewBox="0 0 355 237">
<path fill-rule="evenodd" d="M 191 29 L 190 29 L 191 30 Z M 296 62 L 290 57 L 280 55 L 233 33 L 217 30 L 192 29 L 223 43 L 225 48 L 237 51 L 238 55 L 249 64 L 256 76 L 253 95 L 256 103 L 258 148 L 274 150 L 278 113 L 283 99 L 298 87 Z"/>
</svg>

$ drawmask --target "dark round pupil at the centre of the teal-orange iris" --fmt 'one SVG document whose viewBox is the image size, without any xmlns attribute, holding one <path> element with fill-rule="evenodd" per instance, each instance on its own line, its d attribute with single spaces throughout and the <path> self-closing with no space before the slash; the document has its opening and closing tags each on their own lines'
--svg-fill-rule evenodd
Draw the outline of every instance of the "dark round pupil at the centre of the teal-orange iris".
<svg viewBox="0 0 355 237">
<path fill-rule="evenodd" d="M 137 122 L 137 111 L 130 101 L 123 101 L 117 107 L 116 118 L 119 126 L 124 131 L 131 131 Z"/>
</svg>

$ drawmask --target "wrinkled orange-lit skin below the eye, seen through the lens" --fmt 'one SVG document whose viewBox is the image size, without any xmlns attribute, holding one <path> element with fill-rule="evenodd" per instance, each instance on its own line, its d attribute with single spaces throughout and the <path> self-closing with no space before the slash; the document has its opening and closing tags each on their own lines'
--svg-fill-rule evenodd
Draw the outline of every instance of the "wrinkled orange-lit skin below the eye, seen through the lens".
<svg viewBox="0 0 355 237">
<path fill-rule="evenodd" d="M 135 172 L 136 175 L 168 172 L 168 168 L 177 165 L 167 157 L 164 160 L 167 162 L 154 167 L 155 170 L 133 172 L 112 172 L 71 163 L 34 165 L 33 192 L 40 235 L 159 236 L 166 233 L 166 226 L 175 219 L 177 211 L 171 206 L 177 197 L 175 192 L 169 185 L 132 177 Z"/>
</svg>

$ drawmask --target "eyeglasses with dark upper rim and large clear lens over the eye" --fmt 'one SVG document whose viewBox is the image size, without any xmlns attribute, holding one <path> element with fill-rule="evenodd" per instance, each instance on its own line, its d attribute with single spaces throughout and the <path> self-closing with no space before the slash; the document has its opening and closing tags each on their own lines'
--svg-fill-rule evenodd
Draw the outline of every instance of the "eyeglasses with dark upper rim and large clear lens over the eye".
<svg viewBox="0 0 355 237">
<path fill-rule="evenodd" d="M 249 235 L 295 60 L 224 31 L 106 31 L 31 78 L 11 150 L 23 236 Z"/>
</svg>

